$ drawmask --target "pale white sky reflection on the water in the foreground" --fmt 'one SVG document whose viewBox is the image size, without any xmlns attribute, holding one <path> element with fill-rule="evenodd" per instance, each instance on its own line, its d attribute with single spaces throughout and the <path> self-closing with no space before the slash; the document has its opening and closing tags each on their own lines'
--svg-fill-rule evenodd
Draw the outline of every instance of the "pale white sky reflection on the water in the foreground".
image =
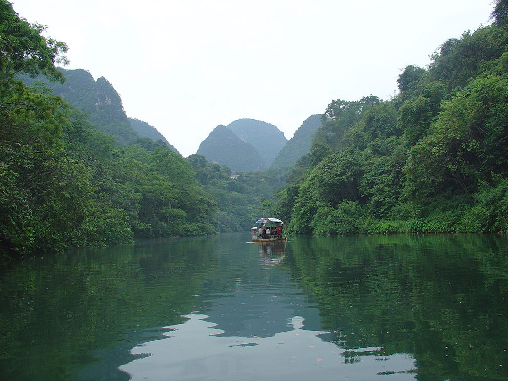
<svg viewBox="0 0 508 381">
<path fill-rule="evenodd" d="M 166 327 L 168 338 L 133 348 L 146 355 L 120 367 L 132 380 L 308 380 L 373 379 L 393 374 L 394 380 L 414 379 L 414 359 L 405 354 L 387 356 L 383 348 L 344 352 L 338 343 L 320 338 L 325 332 L 307 331 L 303 318 L 286 321 L 287 330 L 270 337 L 224 336 L 209 316 L 190 314 L 187 322 Z M 355 359 L 356 361 L 352 361 Z M 352 365 L 354 364 L 354 365 Z"/>
</svg>

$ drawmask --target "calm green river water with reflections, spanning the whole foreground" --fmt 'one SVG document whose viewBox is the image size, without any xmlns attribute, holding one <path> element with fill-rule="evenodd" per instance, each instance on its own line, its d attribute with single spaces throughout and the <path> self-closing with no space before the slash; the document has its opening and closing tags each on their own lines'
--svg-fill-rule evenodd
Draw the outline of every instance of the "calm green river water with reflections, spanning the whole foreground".
<svg viewBox="0 0 508 381">
<path fill-rule="evenodd" d="M 2 270 L 0 379 L 508 379 L 506 237 L 249 240 Z"/>
</svg>

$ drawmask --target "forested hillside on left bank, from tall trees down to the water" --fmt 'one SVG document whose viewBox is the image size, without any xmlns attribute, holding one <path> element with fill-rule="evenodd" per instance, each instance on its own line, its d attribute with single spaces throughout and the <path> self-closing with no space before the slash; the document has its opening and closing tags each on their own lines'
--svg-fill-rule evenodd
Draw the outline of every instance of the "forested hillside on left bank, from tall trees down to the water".
<svg viewBox="0 0 508 381">
<path fill-rule="evenodd" d="M 27 86 L 19 74 L 65 88 L 55 65 L 66 63 L 67 45 L 42 37 L 44 27 L 20 19 L 5 0 L 0 25 L 0 258 L 217 231 L 216 202 L 190 163 L 162 141 L 134 144 L 130 131 L 139 136 L 105 79 L 86 101 L 96 107 L 89 115 L 42 82 Z M 86 72 L 75 74 L 91 84 Z"/>
</svg>

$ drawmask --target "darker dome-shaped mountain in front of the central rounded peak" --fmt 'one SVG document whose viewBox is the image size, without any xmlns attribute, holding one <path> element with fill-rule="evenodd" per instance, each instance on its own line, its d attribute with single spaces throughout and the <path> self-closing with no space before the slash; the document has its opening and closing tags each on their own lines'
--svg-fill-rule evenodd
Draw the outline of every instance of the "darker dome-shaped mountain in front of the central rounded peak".
<svg viewBox="0 0 508 381">
<path fill-rule="evenodd" d="M 258 171 L 266 169 L 259 152 L 240 139 L 225 125 L 218 125 L 203 140 L 196 152 L 209 162 L 227 165 L 232 171 Z"/>
</svg>

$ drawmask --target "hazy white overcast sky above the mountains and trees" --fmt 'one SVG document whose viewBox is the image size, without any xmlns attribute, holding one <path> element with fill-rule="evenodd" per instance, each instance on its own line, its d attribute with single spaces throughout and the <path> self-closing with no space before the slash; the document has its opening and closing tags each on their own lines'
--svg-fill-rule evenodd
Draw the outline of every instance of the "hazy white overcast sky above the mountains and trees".
<svg viewBox="0 0 508 381">
<path fill-rule="evenodd" d="M 11 0 L 183 156 L 253 118 L 290 139 L 334 99 L 389 99 L 407 65 L 490 22 L 492 0 Z"/>
</svg>

